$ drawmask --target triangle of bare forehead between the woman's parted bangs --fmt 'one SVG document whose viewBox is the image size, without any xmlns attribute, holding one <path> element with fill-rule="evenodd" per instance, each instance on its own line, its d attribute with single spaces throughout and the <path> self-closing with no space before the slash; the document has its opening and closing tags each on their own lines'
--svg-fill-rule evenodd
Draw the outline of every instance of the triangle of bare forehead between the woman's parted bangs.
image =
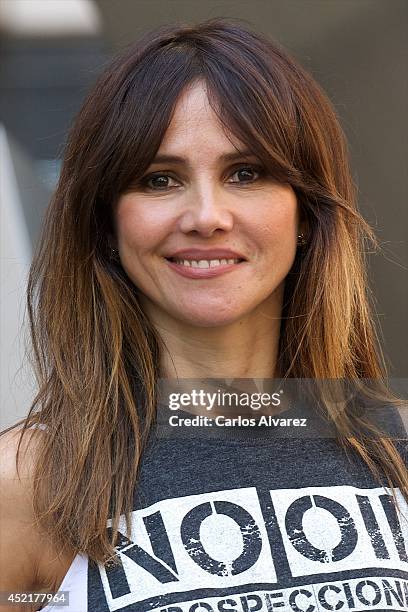
<svg viewBox="0 0 408 612">
<path fill-rule="evenodd" d="M 206 84 L 198 81 L 181 93 L 169 127 L 160 145 L 160 153 L 227 152 L 241 148 L 239 142 L 221 124 L 210 105 Z"/>
</svg>

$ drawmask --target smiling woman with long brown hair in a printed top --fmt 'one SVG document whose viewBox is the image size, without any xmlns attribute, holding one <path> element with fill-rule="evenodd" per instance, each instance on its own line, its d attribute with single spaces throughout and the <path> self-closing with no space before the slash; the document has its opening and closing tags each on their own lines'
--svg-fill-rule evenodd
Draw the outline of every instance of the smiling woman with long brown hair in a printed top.
<svg viewBox="0 0 408 612">
<path fill-rule="evenodd" d="M 2 588 L 72 612 L 404 609 L 406 465 L 352 411 L 327 402 L 337 440 L 154 434 L 160 377 L 382 380 L 366 238 L 333 109 L 275 44 L 213 20 L 118 57 L 31 269 Z"/>
</svg>

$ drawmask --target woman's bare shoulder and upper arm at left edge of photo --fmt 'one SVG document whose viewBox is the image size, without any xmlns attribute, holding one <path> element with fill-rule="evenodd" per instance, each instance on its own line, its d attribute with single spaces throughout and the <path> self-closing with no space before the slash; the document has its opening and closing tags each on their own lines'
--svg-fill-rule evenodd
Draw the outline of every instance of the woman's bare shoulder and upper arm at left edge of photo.
<svg viewBox="0 0 408 612">
<path fill-rule="evenodd" d="M 41 533 L 33 511 L 33 476 L 41 430 L 28 430 L 17 449 L 21 430 L 0 436 L 0 590 L 57 588 L 73 555 L 62 557 Z"/>
</svg>

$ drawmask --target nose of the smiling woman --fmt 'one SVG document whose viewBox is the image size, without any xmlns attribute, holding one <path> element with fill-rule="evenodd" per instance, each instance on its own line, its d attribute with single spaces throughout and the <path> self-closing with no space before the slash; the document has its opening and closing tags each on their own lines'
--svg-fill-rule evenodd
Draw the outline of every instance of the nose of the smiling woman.
<svg viewBox="0 0 408 612">
<path fill-rule="evenodd" d="M 209 237 L 216 230 L 231 231 L 234 225 L 228 197 L 212 185 L 202 185 L 188 194 L 188 201 L 180 219 L 184 233 L 197 232 Z"/>
</svg>

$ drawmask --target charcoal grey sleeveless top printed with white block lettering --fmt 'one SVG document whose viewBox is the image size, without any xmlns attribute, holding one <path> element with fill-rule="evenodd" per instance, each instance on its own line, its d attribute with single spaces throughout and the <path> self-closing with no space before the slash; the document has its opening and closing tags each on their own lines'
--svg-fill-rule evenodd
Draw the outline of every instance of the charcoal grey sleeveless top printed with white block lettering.
<svg viewBox="0 0 408 612">
<path fill-rule="evenodd" d="M 408 505 L 398 489 L 395 509 L 391 491 L 334 439 L 266 429 L 156 429 L 130 538 L 120 525 L 119 564 L 77 555 L 60 586 L 69 606 L 42 612 L 407 611 Z M 397 446 L 407 465 L 406 440 Z"/>
</svg>

